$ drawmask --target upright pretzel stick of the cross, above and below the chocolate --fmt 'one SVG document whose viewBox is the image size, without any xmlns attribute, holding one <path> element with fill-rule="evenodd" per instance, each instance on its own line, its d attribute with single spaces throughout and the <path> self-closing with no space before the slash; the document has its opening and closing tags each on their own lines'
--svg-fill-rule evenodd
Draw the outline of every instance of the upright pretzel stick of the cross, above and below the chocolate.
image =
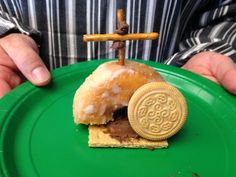
<svg viewBox="0 0 236 177">
<path fill-rule="evenodd" d="M 121 22 L 124 21 L 123 9 L 118 9 L 117 11 L 117 25 L 120 26 Z M 118 63 L 120 65 L 125 65 L 125 47 L 118 49 Z"/>
</svg>

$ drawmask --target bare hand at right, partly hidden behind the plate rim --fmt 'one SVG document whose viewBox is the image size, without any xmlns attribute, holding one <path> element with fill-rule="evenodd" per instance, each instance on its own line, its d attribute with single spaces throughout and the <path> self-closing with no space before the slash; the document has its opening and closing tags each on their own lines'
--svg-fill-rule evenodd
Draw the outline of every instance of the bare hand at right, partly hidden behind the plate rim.
<svg viewBox="0 0 236 177">
<path fill-rule="evenodd" d="M 200 74 L 236 94 L 236 64 L 227 56 L 202 52 L 193 56 L 182 68 Z"/>
</svg>

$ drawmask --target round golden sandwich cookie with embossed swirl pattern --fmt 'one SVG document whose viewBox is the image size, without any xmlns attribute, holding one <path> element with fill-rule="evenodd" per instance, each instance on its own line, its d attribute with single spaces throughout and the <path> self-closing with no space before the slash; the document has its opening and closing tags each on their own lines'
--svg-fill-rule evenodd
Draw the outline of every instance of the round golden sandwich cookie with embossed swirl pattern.
<svg viewBox="0 0 236 177">
<path fill-rule="evenodd" d="M 163 140 L 177 133 L 186 120 L 187 104 L 177 88 L 153 82 L 140 87 L 128 106 L 131 127 L 143 138 Z"/>
</svg>

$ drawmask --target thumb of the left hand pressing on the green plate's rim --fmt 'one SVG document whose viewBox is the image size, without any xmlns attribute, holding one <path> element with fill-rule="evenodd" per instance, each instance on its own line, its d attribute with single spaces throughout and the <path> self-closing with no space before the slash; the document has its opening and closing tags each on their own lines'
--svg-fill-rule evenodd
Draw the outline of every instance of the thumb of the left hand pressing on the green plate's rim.
<svg viewBox="0 0 236 177">
<path fill-rule="evenodd" d="M 50 82 L 50 73 L 38 53 L 28 43 L 21 41 L 8 42 L 5 50 L 17 68 L 34 85 L 43 86 Z M 18 49 L 15 52 L 15 49 Z"/>
</svg>

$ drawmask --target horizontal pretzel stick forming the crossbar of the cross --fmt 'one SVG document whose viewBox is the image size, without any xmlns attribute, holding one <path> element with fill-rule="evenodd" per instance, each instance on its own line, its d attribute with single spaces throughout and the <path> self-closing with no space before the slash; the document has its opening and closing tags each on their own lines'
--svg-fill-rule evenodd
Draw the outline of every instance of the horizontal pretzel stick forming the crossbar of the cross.
<svg viewBox="0 0 236 177">
<path fill-rule="evenodd" d="M 135 33 L 135 34 L 86 34 L 83 37 L 84 42 L 89 41 L 125 41 L 125 40 L 154 40 L 158 33 Z"/>
</svg>

